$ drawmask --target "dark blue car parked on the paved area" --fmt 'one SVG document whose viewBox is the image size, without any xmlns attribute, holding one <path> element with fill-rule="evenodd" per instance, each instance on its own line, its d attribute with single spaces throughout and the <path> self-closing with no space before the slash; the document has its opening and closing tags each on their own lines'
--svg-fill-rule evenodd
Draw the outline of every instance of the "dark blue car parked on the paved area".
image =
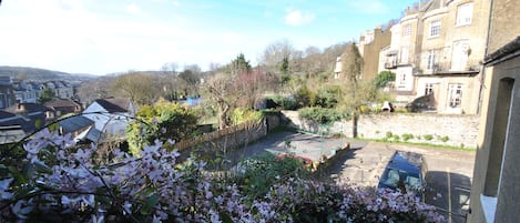
<svg viewBox="0 0 520 223">
<path fill-rule="evenodd" d="M 411 191 L 421 201 L 425 201 L 427 172 L 428 168 L 422 154 L 396 151 L 388 161 L 377 189 L 378 191 L 383 189 Z"/>
</svg>

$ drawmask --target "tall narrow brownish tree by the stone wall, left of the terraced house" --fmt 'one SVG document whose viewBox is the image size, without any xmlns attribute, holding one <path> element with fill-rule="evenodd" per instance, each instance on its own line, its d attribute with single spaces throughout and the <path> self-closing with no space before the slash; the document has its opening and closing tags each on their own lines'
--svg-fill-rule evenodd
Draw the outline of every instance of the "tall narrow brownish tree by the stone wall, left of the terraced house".
<svg viewBox="0 0 520 223">
<path fill-rule="evenodd" d="M 353 118 L 353 136 L 357 136 L 357 122 L 364 112 L 364 107 L 377 99 L 377 89 L 373 82 L 360 80 L 363 58 L 354 43 L 350 43 L 341 54 L 340 78 L 345 83 L 341 105 L 350 112 Z"/>
</svg>

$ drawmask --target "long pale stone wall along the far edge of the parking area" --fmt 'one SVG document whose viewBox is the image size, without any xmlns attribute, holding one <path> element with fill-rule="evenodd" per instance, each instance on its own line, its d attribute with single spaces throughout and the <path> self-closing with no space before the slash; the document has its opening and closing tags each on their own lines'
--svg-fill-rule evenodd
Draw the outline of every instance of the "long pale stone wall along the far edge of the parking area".
<svg viewBox="0 0 520 223">
<path fill-rule="evenodd" d="M 297 111 L 284 111 L 290 126 L 319 134 L 353 136 L 351 121 L 318 125 L 300 120 Z M 358 136 L 463 148 L 477 148 L 479 116 L 468 114 L 381 113 L 363 115 Z"/>
</svg>

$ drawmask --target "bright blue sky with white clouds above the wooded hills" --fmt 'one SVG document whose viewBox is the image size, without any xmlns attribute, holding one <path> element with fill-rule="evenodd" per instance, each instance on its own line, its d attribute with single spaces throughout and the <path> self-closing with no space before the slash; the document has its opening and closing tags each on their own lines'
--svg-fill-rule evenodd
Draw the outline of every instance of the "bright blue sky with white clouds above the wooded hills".
<svg viewBox="0 0 520 223">
<path fill-rule="evenodd" d="M 256 64 L 273 42 L 298 50 L 357 40 L 417 0 L 3 0 L 0 65 L 108 74 L 174 62 Z"/>
</svg>

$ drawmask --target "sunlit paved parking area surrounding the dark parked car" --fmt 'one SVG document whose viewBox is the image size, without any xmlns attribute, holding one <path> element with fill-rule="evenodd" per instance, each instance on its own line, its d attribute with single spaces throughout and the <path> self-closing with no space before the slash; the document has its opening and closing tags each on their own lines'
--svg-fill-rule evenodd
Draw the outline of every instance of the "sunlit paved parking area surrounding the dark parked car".
<svg viewBox="0 0 520 223">
<path fill-rule="evenodd" d="M 356 144 L 363 145 L 353 141 L 353 145 Z M 369 142 L 364 146 L 353 146 L 327 169 L 327 174 L 338 183 L 375 187 L 396 150 L 425 155 L 428 165 L 426 203 L 437 206 L 448 222 L 466 222 L 475 152 Z"/>
</svg>

